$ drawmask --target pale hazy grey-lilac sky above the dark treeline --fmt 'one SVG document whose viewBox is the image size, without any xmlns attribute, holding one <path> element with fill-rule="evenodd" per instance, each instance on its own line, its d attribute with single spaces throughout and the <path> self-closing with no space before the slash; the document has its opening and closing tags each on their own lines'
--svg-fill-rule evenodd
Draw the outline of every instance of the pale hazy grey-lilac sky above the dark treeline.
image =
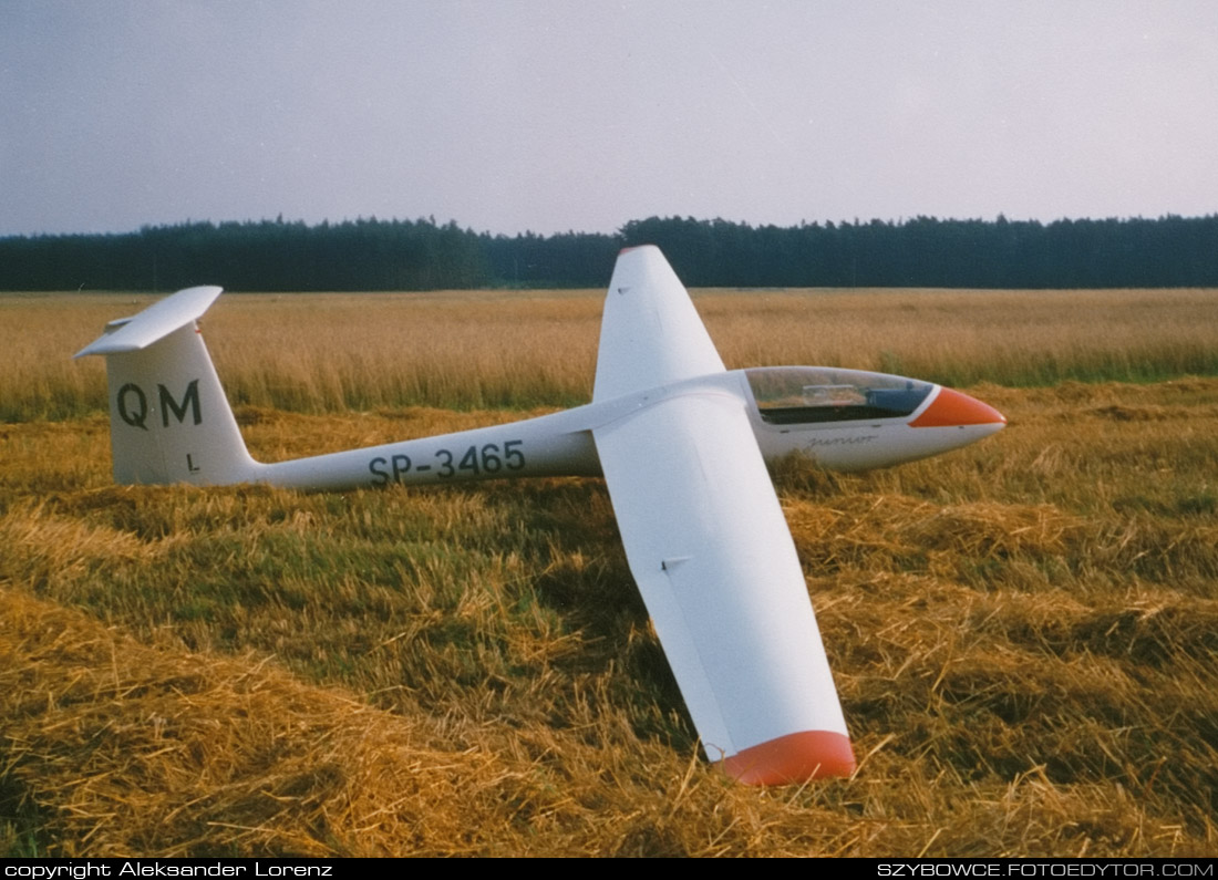
<svg viewBox="0 0 1218 880">
<path fill-rule="evenodd" d="M 1212 0 L 0 0 L 0 235 L 1218 212 Z"/>
</svg>

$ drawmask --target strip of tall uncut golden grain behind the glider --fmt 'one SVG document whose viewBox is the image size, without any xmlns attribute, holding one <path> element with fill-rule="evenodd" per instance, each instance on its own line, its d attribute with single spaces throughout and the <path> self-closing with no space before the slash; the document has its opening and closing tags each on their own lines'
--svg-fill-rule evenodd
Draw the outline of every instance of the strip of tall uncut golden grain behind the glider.
<svg viewBox="0 0 1218 880">
<path fill-rule="evenodd" d="M 240 295 L 203 321 L 236 404 L 342 413 L 588 400 L 602 292 Z M 66 354 L 149 296 L 0 295 L 0 421 L 99 411 L 100 358 Z M 966 387 L 1218 375 L 1205 290 L 697 292 L 730 366 L 834 364 Z"/>
</svg>

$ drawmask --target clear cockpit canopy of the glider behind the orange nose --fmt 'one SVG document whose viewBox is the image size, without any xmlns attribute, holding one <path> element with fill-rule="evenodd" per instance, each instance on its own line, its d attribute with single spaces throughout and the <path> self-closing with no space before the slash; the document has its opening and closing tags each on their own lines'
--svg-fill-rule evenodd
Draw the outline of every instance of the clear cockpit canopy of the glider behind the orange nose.
<svg viewBox="0 0 1218 880">
<path fill-rule="evenodd" d="M 894 419 L 917 409 L 929 382 L 829 366 L 745 370 L 761 419 L 770 425 Z"/>
</svg>

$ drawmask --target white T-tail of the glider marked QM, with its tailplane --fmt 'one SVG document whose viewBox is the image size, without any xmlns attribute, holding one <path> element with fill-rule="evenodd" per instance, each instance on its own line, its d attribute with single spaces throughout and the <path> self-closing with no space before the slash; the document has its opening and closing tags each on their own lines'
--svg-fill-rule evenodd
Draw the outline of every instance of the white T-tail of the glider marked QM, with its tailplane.
<svg viewBox="0 0 1218 880">
<path fill-rule="evenodd" d="M 195 320 L 219 287 L 178 291 L 111 321 L 76 357 L 106 357 L 110 444 L 118 483 L 217 486 L 253 480 L 233 409 Z"/>
</svg>

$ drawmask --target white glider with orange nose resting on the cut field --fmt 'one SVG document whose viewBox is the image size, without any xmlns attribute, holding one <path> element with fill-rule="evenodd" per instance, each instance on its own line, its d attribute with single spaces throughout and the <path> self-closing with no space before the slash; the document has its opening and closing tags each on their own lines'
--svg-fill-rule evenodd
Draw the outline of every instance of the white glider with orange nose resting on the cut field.
<svg viewBox="0 0 1218 880">
<path fill-rule="evenodd" d="M 592 402 L 563 413 L 276 464 L 246 452 L 190 287 L 111 321 L 114 480 L 348 489 L 603 475 L 631 573 L 711 761 L 749 784 L 850 775 L 854 753 L 766 471 L 790 453 L 859 470 L 935 455 L 1006 425 L 949 388 L 834 368 L 727 370 L 653 246 L 605 297 Z"/>
</svg>

